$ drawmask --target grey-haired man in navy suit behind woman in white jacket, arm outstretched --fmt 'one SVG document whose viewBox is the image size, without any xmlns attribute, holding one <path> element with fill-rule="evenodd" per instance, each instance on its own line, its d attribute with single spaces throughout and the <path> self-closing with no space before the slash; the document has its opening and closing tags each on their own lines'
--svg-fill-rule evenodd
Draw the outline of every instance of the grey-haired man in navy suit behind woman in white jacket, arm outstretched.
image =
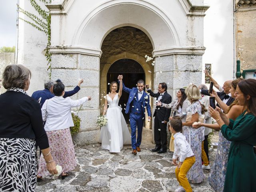
<svg viewBox="0 0 256 192">
<path fill-rule="evenodd" d="M 66 97 L 70 97 L 70 96 L 76 94 L 80 90 L 80 85 L 81 85 L 82 82 L 84 82 L 84 80 L 80 79 L 78 81 L 78 85 L 74 88 L 74 90 L 65 91 L 65 94 L 64 94 L 63 97 L 66 98 Z M 53 91 L 52 91 L 53 84 L 54 84 L 53 80 L 48 80 L 44 83 L 44 90 L 35 91 L 32 94 L 31 97 L 39 102 L 41 108 L 42 108 L 45 100 L 54 97 L 54 94 L 53 94 Z"/>
</svg>

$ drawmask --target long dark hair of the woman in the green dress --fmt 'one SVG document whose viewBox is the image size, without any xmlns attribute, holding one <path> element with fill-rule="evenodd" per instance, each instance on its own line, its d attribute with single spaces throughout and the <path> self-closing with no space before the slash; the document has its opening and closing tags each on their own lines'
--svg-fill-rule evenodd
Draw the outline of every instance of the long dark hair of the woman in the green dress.
<svg viewBox="0 0 256 192">
<path fill-rule="evenodd" d="M 246 79 L 240 81 L 238 84 L 239 89 L 244 94 L 244 97 L 250 95 L 250 99 L 246 100 L 245 106 L 250 111 L 249 113 L 256 116 L 256 80 Z"/>
</svg>

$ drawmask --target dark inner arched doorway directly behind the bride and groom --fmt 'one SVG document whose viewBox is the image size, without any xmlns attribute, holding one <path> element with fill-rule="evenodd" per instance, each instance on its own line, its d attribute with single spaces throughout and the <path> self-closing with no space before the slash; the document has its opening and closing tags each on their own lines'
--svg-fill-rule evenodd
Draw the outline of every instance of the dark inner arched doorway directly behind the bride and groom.
<svg viewBox="0 0 256 192">
<path fill-rule="evenodd" d="M 108 70 L 107 82 L 110 83 L 112 81 L 117 81 L 117 77 L 120 74 L 123 75 L 123 82 L 128 88 L 136 87 L 136 83 L 139 79 L 142 79 L 145 82 L 144 69 L 138 62 L 132 59 L 120 59 L 114 62 Z M 110 87 L 107 85 L 107 92 L 109 91 Z M 122 113 L 126 123 L 130 124 L 129 114 L 125 114 L 124 110 L 124 108 L 126 108 L 125 104 L 128 101 L 128 97 L 129 94 L 123 91 L 119 100 L 119 106 L 123 108 Z"/>
</svg>

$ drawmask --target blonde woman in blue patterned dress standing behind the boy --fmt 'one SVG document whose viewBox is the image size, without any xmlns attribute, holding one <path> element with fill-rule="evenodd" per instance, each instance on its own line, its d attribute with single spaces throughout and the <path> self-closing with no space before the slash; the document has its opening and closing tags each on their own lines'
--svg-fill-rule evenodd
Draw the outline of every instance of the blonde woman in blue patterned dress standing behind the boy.
<svg viewBox="0 0 256 192">
<path fill-rule="evenodd" d="M 192 118 L 188 122 L 183 122 L 183 135 L 186 136 L 186 140 L 191 146 L 193 153 L 195 154 L 196 162 L 188 171 L 187 177 L 192 183 L 200 183 L 204 180 L 204 173 L 202 170 L 201 150 L 202 141 L 204 140 L 204 132 L 202 128 L 193 128 L 192 124 L 199 121 L 199 115 L 201 115 L 201 104 L 199 99 L 201 98 L 200 91 L 196 85 L 189 85 L 185 93 L 191 106 L 187 108 L 188 112 L 191 112 Z"/>
</svg>

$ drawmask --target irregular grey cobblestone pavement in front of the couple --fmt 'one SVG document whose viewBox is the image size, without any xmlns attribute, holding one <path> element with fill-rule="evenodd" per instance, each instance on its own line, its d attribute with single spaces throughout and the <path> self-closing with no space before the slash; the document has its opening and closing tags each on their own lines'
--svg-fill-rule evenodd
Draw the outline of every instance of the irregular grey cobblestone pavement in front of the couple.
<svg viewBox="0 0 256 192">
<path fill-rule="evenodd" d="M 131 146 L 124 146 L 120 153 L 102 150 L 100 144 L 76 148 L 77 166 L 64 180 L 43 178 L 37 192 L 165 192 L 178 187 L 172 153 L 153 153 L 149 148 L 151 130 L 144 129 L 142 151 L 131 154 Z M 210 152 L 210 160 L 215 158 Z M 214 157 L 214 158 L 213 158 Z M 192 184 L 194 192 L 214 192 L 208 184 L 210 170 L 204 170 L 205 180 Z"/>
</svg>

